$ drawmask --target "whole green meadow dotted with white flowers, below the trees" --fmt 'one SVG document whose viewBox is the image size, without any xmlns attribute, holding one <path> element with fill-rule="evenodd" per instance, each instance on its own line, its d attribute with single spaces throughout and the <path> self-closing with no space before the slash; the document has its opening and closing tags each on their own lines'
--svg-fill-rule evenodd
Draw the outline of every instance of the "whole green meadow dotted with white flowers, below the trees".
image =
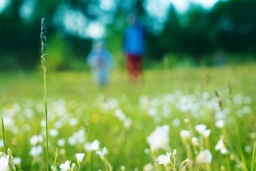
<svg viewBox="0 0 256 171">
<path fill-rule="evenodd" d="M 146 70 L 133 84 L 117 70 L 101 89 L 89 72 L 49 70 L 49 166 L 58 147 L 55 170 L 67 160 L 78 166 L 76 153 L 85 153 L 80 170 L 254 170 L 255 71 L 255 64 Z M 46 170 L 43 73 L 1 73 L 0 83 L 16 169 Z"/>
</svg>

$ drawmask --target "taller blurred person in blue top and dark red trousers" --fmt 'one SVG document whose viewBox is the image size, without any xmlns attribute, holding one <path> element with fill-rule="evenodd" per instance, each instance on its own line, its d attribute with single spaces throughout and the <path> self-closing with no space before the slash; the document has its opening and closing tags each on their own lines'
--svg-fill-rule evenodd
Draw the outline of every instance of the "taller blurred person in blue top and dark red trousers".
<svg viewBox="0 0 256 171">
<path fill-rule="evenodd" d="M 139 25 L 136 15 L 130 14 L 124 35 L 124 52 L 129 79 L 132 82 L 137 82 L 142 77 L 144 35 L 144 28 Z"/>
</svg>

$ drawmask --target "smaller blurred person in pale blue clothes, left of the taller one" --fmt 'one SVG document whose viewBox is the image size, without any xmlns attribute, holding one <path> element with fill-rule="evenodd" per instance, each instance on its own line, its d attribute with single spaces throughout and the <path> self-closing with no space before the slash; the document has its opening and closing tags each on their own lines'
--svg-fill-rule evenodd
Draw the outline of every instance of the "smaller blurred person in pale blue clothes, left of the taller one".
<svg viewBox="0 0 256 171">
<path fill-rule="evenodd" d="M 87 56 L 87 63 L 91 68 L 92 78 L 100 87 L 105 86 L 109 80 L 109 71 L 113 64 L 111 52 L 105 48 L 103 40 L 96 40 L 92 50 Z"/>
</svg>

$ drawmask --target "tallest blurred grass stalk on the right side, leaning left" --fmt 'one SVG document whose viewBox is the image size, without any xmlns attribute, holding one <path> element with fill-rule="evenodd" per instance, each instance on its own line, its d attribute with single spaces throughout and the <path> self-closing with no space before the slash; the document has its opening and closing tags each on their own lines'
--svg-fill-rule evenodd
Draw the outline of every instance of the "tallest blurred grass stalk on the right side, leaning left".
<svg viewBox="0 0 256 171">
<path fill-rule="evenodd" d="M 230 82 L 227 82 L 227 88 L 228 88 L 227 90 L 229 92 L 229 100 L 231 103 L 231 113 L 233 114 L 233 118 L 234 118 L 234 127 L 235 127 L 235 134 L 237 136 L 237 144 L 238 144 L 238 148 L 239 148 L 239 154 L 242 159 L 244 169 L 248 170 L 247 165 L 246 165 L 245 156 L 244 156 L 243 150 L 242 150 L 241 138 L 239 135 L 239 129 L 238 129 L 238 124 L 237 124 L 237 117 L 235 116 L 233 96 L 232 96 L 232 92 L 231 92 Z"/>
</svg>

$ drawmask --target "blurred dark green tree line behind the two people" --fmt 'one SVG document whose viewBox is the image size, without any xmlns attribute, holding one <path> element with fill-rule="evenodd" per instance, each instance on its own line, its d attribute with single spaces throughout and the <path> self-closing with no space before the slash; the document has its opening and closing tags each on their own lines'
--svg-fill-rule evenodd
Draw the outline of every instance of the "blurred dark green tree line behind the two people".
<svg viewBox="0 0 256 171">
<path fill-rule="evenodd" d="M 186 58 L 196 64 L 206 60 L 206 64 L 211 65 L 217 51 L 242 54 L 237 57 L 242 58 L 241 61 L 254 59 L 256 1 L 220 1 L 210 10 L 190 4 L 184 14 L 170 5 L 162 23 L 148 14 L 145 1 L 113 0 L 112 7 L 102 5 L 102 0 L 6 1 L 7 6 L 0 11 L 0 70 L 40 66 L 40 19 L 43 17 L 48 27 L 46 60 L 52 70 L 84 69 L 92 38 L 72 25 L 86 27 L 90 22 L 103 23 L 107 46 L 119 60 L 123 57 L 123 32 L 129 13 L 136 13 L 147 30 L 147 59 L 169 58 L 175 63 Z M 71 19 L 67 20 L 68 17 Z M 158 26 L 161 27 L 155 29 Z"/>
</svg>

